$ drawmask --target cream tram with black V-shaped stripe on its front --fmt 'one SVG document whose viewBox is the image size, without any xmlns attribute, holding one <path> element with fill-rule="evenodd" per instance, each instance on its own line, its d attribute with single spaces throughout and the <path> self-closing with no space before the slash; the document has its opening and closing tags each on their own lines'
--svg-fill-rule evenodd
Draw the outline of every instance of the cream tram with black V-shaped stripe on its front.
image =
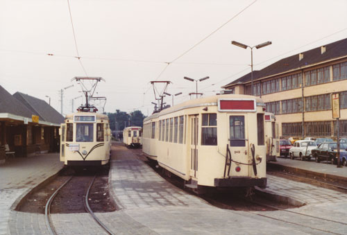
<svg viewBox="0 0 347 235">
<path fill-rule="evenodd" d="M 68 166 L 102 166 L 110 161 L 108 116 L 76 112 L 60 126 L 60 161 Z"/>
</svg>

